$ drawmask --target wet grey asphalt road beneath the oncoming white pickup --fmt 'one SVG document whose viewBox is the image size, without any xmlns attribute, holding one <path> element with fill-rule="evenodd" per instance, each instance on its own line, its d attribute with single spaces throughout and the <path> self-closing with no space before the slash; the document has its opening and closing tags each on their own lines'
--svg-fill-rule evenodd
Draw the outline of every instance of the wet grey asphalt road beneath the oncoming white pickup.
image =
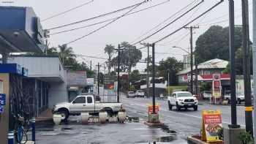
<svg viewBox="0 0 256 144">
<path fill-rule="evenodd" d="M 128 115 L 136 115 L 145 120 L 148 118 L 147 105 L 151 104 L 151 98 L 127 98 L 124 94 L 121 94 L 121 102 L 124 103 Z M 202 110 L 221 110 L 223 126 L 227 126 L 231 121 L 230 105 L 209 105 L 208 102 L 200 102 L 197 111 L 192 108 L 176 111 L 176 107 L 173 107 L 173 110 L 168 110 L 166 99 L 156 99 L 156 103 L 160 105 L 160 120 L 167 124 L 170 129 L 178 132 L 178 135 L 183 139 L 188 135 L 200 133 Z M 238 124 L 244 127 L 244 106 L 237 107 L 237 121 Z"/>
</svg>

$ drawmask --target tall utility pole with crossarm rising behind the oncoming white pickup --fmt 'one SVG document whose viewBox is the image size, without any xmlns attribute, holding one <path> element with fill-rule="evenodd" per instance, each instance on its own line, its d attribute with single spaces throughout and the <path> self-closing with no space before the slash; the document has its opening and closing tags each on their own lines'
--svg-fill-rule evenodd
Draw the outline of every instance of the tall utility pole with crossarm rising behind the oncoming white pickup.
<svg viewBox="0 0 256 144">
<path fill-rule="evenodd" d="M 190 29 L 190 92 L 194 94 L 193 91 L 193 29 L 199 29 L 199 26 L 184 27 L 184 29 Z"/>
</svg>

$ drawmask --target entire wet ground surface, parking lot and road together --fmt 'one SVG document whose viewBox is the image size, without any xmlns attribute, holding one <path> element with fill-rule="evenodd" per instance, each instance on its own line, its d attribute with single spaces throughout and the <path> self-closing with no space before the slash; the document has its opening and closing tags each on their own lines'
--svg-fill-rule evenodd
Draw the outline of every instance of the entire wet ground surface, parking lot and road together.
<svg viewBox="0 0 256 144">
<path fill-rule="evenodd" d="M 108 92 L 108 91 L 107 91 Z M 151 99 L 126 98 L 121 94 L 121 102 L 129 117 L 137 121 L 126 121 L 125 124 L 87 124 L 80 123 L 80 116 L 70 116 L 68 124 L 37 125 L 37 143 L 39 144 L 115 144 L 115 143 L 173 143 L 185 144 L 187 137 L 199 134 L 202 110 L 222 110 L 223 125 L 230 123 L 230 106 L 208 105 L 203 102 L 198 111 L 167 109 L 166 99 L 157 99 L 159 118 L 165 126 L 149 127 L 147 105 Z M 237 107 L 238 124 L 244 127 L 244 107 Z M 128 118 L 129 119 L 129 118 Z"/>
</svg>

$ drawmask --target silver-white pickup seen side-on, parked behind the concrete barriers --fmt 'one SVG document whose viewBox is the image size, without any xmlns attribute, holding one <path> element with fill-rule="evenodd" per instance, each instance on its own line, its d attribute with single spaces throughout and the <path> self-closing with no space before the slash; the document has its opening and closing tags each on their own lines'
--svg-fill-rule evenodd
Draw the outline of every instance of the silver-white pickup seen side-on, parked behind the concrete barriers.
<svg viewBox="0 0 256 144">
<path fill-rule="evenodd" d="M 121 103 L 101 103 L 94 101 L 94 95 L 86 94 L 76 96 L 72 102 L 61 102 L 53 106 L 53 113 L 59 113 L 64 116 L 64 120 L 69 115 L 80 115 L 80 113 L 98 114 L 99 110 L 105 110 L 112 115 L 118 113 L 123 107 Z"/>
</svg>

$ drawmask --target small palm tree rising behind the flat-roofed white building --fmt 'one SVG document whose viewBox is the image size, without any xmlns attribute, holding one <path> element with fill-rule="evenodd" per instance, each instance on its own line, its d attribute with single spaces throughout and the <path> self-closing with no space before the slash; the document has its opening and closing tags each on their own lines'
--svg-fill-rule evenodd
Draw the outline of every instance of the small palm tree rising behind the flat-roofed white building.
<svg viewBox="0 0 256 144">
<path fill-rule="evenodd" d="M 62 63 L 64 64 L 64 58 L 75 58 L 74 51 L 71 47 L 67 47 L 67 45 L 59 45 L 59 56 L 62 59 Z"/>
</svg>

